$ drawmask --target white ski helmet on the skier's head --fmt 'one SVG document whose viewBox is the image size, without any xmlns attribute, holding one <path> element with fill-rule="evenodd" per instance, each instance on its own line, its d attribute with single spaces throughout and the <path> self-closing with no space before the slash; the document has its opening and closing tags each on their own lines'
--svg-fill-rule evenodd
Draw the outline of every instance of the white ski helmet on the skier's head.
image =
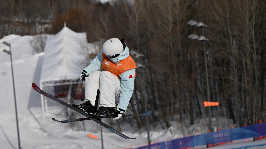
<svg viewBox="0 0 266 149">
<path fill-rule="evenodd" d="M 102 52 L 108 59 L 117 57 L 123 50 L 123 44 L 118 38 L 111 38 L 102 45 Z"/>
</svg>

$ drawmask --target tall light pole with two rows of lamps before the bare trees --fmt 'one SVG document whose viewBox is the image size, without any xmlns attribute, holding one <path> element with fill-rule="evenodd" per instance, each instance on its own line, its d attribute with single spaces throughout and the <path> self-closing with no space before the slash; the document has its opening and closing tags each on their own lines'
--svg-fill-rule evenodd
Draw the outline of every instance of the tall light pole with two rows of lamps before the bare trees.
<svg viewBox="0 0 266 149">
<path fill-rule="evenodd" d="M 194 20 L 188 21 L 187 24 L 188 25 L 191 25 L 191 26 L 196 26 L 196 27 L 202 28 L 203 36 L 198 36 L 198 35 L 195 35 L 195 34 L 190 34 L 188 36 L 188 38 L 196 39 L 198 41 L 203 41 L 204 59 L 205 59 L 205 71 L 206 71 L 206 84 L 207 84 L 207 94 L 208 94 L 208 101 L 210 101 L 209 77 L 208 77 L 208 68 L 207 68 L 206 47 L 205 47 L 205 42 L 206 41 L 209 41 L 209 39 L 206 38 L 205 37 L 205 34 L 204 34 L 204 28 L 207 28 L 207 25 L 204 24 L 204 23 L 202 23 L 202 22 L 197 22 L 197 21 L 194 21 Z M 211 129 L 211 107 L 208 107 L 208 113 L 209 113 L 209 130 L 212 131 L 212 129 Z"/>
</svg>

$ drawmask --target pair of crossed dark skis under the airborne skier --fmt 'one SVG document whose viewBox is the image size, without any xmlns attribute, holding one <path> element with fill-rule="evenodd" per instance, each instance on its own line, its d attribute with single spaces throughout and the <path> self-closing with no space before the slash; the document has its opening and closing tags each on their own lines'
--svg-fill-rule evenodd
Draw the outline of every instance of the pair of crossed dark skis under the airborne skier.
<svg viewBox="0 0 266 149">
<path fill-rule="evenodd" d="M 81 118 L 81 119 L 74 119 L 74 120 L 63 120 L 63 121 L 58 121 L 56 119 L 53 118 L 54 121 L 58 121 L 58 122 L 75 122 L 75 121 L 84 121 L 84 120 L 93 120 L 95 122 L 97 122 L 98 124 L 102 125 L 103 127 L 109 129 L 110 131 L 114 132 L 115 134 L 119 135 L 120 137 L 124 138 L 124 139 L 136 139 L 136 138 L 130 138 L 130 137 L 127 137 L 126 135 L 120 133 L 118 130 L 115 130 L 114 128 L 112 128 L 111 126 L 105 124 L 104 122 L 102 122 L 101 120 L 99 119 L 102 119 L 102 118 L 110 118 L 110 116 L 105 116 L 105 117 L 101 117 L 101 118 L 93 118 L 91 117 L 90 115 L 88 115 L 87 113 L 85 112 L 82 112 L 80 109 L 76 108 L 76 107 L 73 107 L 71 106 L 70 104 L 66 103 L 66 102 L 63 102 L 62 100 L 56 98 L 56 97 L 53 97 L 52 95 L 46 93 L 45 91 L 41 90 L 39 86 L 37 86 L 35 83 L 32 83 L 32 88 L 37 91 L 38 93 L 52 99 L 52 100 L 55 100 L 56 102 L 58 103 L 61 103 L 63 104 L 64 106 L 86 116 L 86 118 Z M 128 116 L 148 116 L 152 113 L 152 111 L 147 111 L 145 113 L 142 113 L 142 114 L 135 114 L 135 115 L 123 115 L 123 117 L 128 117 Z M 111 116 L 113 117 L 113 116 Z"/>
</svg>

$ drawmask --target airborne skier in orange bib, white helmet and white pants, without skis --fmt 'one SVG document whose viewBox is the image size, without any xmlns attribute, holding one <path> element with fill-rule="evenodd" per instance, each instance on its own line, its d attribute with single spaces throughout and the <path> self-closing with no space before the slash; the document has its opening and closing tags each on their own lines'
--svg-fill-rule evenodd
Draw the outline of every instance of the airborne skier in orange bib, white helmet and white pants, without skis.
<svg viewBox="0 0 266 149">
<path fill-rule="evenodd" d="M 81 73 L 80 79 L 85 81 L 85 103 L 74 106 L 97 116 L 113 114 L 114 120 L 119 119 L 132 97 L 136 68 L 124 39 L 107 40 L 102 51 Z M 98 89 L 100 103 L 97 110 Z M 116 109 L 115 99 L 119 99 Z"/>
</svg>

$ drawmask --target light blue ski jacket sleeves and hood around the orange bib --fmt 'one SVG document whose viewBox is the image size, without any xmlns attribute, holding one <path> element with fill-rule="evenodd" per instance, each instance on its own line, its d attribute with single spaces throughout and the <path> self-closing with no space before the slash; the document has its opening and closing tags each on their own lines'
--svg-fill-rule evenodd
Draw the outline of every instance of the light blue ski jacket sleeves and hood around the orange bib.
<svg viewBox="0 0 266 149">
<path fill-rule="evenodd" d="M 120 60 L 126 59 L 129 55 L 129 49 L 126 46 L 125 50 L 116 58 L 111 59 L 112 62 L 118 63 Z M 93 71 L 101 70 L 102 67 L 102 51 L 95 56 L 92 62 L 84 69 L 87 73 L 86 75 L 89 75 Z M 130 98 L 132 97 L 133 90 L 134 90 L 134 79 L 135 78 L 129 78 L 128 76 L 132 75 L 135 76 L 135 70 L 136 69 L 130 69 L 128 71 L 125 71 L 120 77 L 120 98 L 119 103 L 117 106 L 117 110 L 120 112 L 125 112 L 129 103 Z"/>
</svg>

